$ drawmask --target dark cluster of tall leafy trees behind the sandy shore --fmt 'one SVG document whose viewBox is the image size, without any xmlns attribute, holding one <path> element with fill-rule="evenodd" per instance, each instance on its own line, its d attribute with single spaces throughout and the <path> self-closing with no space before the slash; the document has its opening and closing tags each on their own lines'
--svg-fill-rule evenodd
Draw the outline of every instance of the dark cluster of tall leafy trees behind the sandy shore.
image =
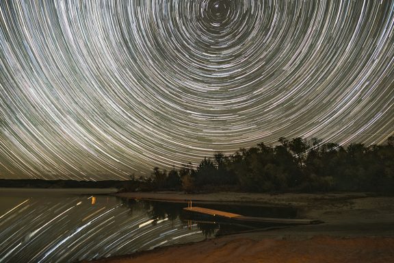
<svg viewBox="0 0 394 263">
<path fill-rule="evenodd" d="M 147 190 L 185 192 L 394 192 L 394 136 L 383 145 L 342 147 L 318 138 L 279 138 L 279 145 L 216 152 L 194 167 L 155 167 L 144 179 Z M 148 184 L 147 184 L 148 183 Z"/>
</svg>

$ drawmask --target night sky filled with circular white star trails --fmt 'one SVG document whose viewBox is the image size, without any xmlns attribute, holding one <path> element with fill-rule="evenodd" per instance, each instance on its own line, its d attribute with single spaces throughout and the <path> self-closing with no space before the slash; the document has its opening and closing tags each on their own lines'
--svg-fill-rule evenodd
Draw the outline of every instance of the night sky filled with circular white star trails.
<svg viewBox="0 0 394 263">
<path fill-rule="evenodd" d="M 0 178 L 128 179 L 280 136 L 380 144 L 394 1 L 0 1 Z"/>
</svg>

